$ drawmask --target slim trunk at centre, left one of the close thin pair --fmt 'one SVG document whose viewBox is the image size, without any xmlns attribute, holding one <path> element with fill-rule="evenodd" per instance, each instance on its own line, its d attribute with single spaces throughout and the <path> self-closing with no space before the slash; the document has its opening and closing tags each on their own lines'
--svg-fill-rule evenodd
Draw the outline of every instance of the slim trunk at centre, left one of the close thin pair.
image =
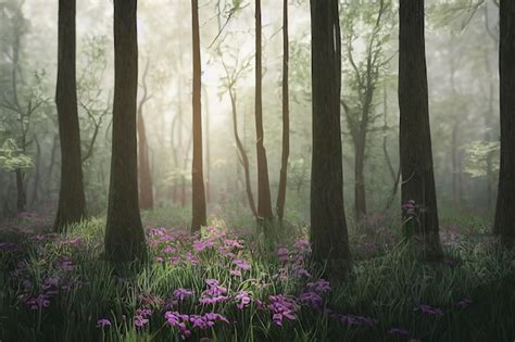
<svg viewBox="0 0 515 342">
<path fill-rule="evenodd" d="M 255 0 L 255 147 L 258 156 L 258 215 L 265 226 L 273 219 L 268 163 L 264 147 L 262 100 L 261 0 Z"/>
</svg>

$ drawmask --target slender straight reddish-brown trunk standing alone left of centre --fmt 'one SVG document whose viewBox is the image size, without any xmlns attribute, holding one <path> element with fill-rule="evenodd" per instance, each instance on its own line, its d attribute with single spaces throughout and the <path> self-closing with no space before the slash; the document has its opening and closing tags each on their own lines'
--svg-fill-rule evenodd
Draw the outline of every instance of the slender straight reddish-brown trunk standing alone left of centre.
<svg viewBox="0 0 515 342">
<path fill-rule="evenodd" d="M 193 33 L 193 160 L 191 162 L 192 185 L 192 218 L 191 232 L 200 231 L 205 226 L 205 190 L 202 163 L 202 71 L 200 61 L 200 28 L 199 28 L 199 1 L 191 0 L 191 18 Z"/>
</svg>

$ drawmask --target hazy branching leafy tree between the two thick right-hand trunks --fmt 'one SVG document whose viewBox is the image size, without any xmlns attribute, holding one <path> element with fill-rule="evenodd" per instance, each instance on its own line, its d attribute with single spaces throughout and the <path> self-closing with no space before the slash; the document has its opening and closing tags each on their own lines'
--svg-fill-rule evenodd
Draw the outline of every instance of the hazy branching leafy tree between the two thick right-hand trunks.
<svg viewBox="0 0 515 342">
<path fill-rule="evenodd" d="M 367 215 L 365 164 L 368 134 L 375 128 L 373 126 L 378 118 L 375 115 L 375 97 L 381 74 L 390 62 L 384 45 L 391 30 L 391 2 L 380 0 L 370 5 L 349 3 L 346 9 L 346 17 L 342 20 L 343 40 L 350 66 L 344 75 L 351 80 L 351 93 L 341 100 L 341 104 L 354 148 L 354 210 L 355 217 L 360 220 Z M 355 50 L 361 43 L 365 47 L 360 54 Z"/>
</svg>

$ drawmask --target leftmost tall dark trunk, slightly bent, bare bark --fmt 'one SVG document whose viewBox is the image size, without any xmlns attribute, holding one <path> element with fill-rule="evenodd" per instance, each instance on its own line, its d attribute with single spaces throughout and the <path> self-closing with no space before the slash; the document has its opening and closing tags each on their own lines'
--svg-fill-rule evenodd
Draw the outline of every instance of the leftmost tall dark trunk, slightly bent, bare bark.
<svg viewBox="0 0 515 342">
<path fill-rule="evenodd" d="M 59 1 L 59 58 L 55 104 L 61 139 L 61 188 L 54 230 L 86 217 L 75 67 L 75 0 Z"/>
</svg>

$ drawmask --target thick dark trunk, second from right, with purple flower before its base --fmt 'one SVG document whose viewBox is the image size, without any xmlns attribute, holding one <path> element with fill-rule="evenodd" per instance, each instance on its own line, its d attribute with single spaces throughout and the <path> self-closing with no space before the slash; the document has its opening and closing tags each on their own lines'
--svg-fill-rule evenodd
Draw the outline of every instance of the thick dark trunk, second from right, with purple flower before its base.
<svg viewBox="0 0 515 342">
<path fill-rule="evenodd" d="M 424 0 L 400 1 L 399 105 L 404 231 L 426 257 L 441 255 L 424 34 Z"/>
</svg>

